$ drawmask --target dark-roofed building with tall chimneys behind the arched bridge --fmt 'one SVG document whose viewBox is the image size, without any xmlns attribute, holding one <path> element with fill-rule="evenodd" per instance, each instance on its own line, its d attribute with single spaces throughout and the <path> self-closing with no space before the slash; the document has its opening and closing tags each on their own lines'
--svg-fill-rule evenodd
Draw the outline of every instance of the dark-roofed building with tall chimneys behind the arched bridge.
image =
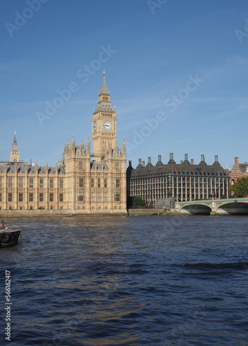
<svg viewBox="0 0 248 346">
<path fill-rule="evenodd" d="M 140 158 L 135 169 L 129 161 L 126 179 L 127 197 L 139 196 L 148 206 L 171 197 L 178 201 L 220 198 L 223 195 L 228 198 L 229 176 L 218 163 L 218 156 L 215 156 L 213 165 L 207 165 L 204 155 L 198 165 L 194 165 L 192 159 L 189 162 L 187 154 L 180 164 L 175 163 L 173 154 L 165 165 L 160 155 L 155 166 L 150 157 L 147 165 Z"/>
</svg>

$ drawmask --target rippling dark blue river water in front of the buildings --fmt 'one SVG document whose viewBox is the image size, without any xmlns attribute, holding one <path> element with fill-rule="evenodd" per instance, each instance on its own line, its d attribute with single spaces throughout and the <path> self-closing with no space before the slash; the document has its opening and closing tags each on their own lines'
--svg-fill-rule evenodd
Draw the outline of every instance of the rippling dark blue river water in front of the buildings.
<svg viewBox="0 0 248 346">
<path fill-rule="evenodd" d="M 1 345 L 248 345 L 247 217 L 5 221 Z"/>
</svg>

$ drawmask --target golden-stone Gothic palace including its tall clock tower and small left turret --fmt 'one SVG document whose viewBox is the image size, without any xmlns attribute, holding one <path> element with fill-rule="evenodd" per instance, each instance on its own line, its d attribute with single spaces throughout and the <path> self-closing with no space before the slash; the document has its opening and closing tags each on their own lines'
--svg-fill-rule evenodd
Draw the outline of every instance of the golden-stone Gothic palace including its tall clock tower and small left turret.
<svg viewBox="0 0 248 346">
<path fill-rule="evenodd" d="M 105 73 L 92 118 L 93 154 L 86 145 L 66 140 L 55 167 L 19 161 L 15 136 L 10 162 L 0 163 L 1 210 L 70 210 L 126 213 L 126 144 L 118 147 L 117 118 Z"/>
</svg>

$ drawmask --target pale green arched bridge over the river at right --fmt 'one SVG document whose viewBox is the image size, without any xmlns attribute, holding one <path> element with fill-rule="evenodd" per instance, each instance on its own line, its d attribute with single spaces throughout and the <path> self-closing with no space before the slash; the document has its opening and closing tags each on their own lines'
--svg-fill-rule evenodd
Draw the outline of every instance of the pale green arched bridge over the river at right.
<svg viewBox="0 0 248 346">
<path fill-rule="evenodd" d="M 182 214 L 192 215 L 248 215 L 248 198 L 202 199 L 176 202 L 175 208 Z"/>
</svg>

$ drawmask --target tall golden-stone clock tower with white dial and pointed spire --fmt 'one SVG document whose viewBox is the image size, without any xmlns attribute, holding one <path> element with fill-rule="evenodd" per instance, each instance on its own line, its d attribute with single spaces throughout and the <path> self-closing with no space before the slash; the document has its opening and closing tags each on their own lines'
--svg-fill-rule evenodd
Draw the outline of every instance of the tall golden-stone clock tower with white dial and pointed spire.
<svg viewBox="0 0 248 346">
<path fill-rule="evenodd" d="M 98 104 L 92 117 L 93 161 L 102 161 L 108 149 L 116 144 L 116 115 L 106 86 L 105 71 Z"/>
</svg>

